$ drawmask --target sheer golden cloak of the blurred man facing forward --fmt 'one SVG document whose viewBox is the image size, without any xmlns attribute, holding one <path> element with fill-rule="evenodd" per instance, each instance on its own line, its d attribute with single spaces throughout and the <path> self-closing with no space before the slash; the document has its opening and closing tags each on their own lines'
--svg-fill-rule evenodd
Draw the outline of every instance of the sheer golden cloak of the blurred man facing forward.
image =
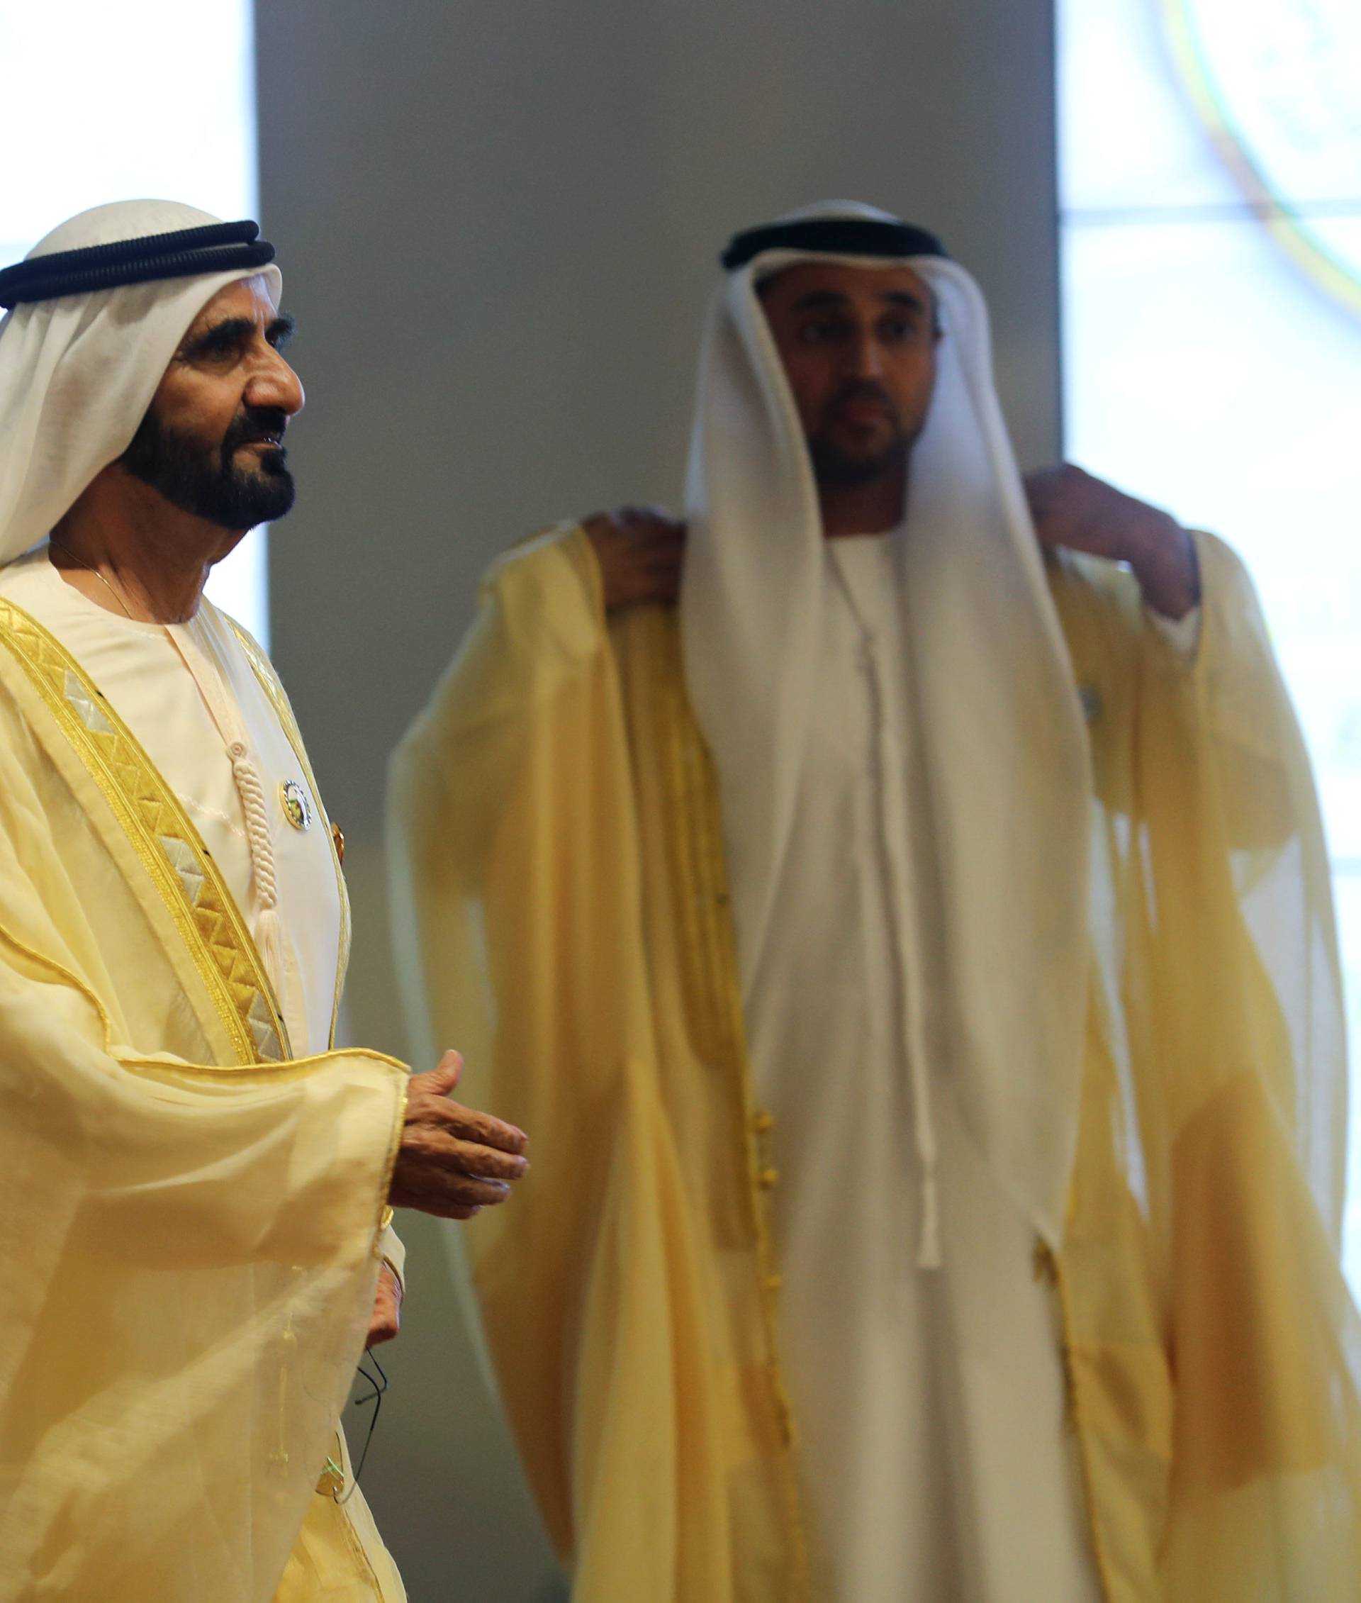
<svg viewBox="0 0 1361 1603">
<path fill-rule="evenodd" d="M 1340 1603 L 1361 1329 L 1327 862 L 1250 583 L 1199 553 L 1191 672 L 1127 572 L 1050 567 L 1093 888 L 1080 1133 L 1037 1273 L 1108 1603 Z M 808 1597 L 769 1117 L 675 616 L 606 624 L 580 531 L 511 553 L 396 757 L 391 819 L 414 1016 L 534 1133 L 470 1268 L 574 1598 Z"/>
</svg>

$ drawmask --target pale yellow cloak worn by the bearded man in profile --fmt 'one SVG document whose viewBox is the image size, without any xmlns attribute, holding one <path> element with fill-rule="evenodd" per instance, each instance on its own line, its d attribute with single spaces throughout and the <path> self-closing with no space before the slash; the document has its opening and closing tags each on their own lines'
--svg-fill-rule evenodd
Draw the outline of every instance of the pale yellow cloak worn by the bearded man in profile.
<svg viewBox="0 0 1361 1603">
<path fill-rule="evenodd" d="M 175 793 L 0 600 L 0 1597 L 269 1603 L 337 1508 L 404 1098 L 289 1056 Z"/>
</svg>

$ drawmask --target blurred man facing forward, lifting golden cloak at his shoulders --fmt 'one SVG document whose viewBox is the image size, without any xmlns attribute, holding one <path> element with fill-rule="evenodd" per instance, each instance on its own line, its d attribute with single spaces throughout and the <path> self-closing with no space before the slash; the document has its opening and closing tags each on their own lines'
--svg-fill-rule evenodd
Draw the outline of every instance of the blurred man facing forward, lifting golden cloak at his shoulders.
<svg viewBox="0 0 1361 1603">
<path fill-rule="evenodd" d="M 574 1600 L 1351 1597 L 1337 954 L 1250 585 L 1023 483 L 933 236 L 723 264 L 685 523 L 511 550 L 393 771 L 414 1016 L 542 1132 L 466 1241 Z"/>
</svg>

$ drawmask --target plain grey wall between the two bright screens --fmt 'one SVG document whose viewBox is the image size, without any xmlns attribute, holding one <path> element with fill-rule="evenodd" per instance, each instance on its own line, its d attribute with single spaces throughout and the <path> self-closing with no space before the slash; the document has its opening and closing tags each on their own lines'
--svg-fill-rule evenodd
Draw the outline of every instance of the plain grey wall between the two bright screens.
<svg viewBox="0 0 1361 1603">
<path fill-rule="evenodd" d="M 349 1032 L 404 1053 L 386 955 L 388 750 L 491 556 L 676 503 L 729 232 L 813 199 L 939 231 L 989 297 L 1026 463 L 1058 441 L 1050 0 L 266 0 L 266 232 L 300 316 L 298 510 L 274 657 L 356 907 Z M 559 1595 L 457 1327 L 438 1228 L 364 1481 L 414 1603 Z M 620 1600 L 646 1603 L 646 1600 Z"/>
</svg>

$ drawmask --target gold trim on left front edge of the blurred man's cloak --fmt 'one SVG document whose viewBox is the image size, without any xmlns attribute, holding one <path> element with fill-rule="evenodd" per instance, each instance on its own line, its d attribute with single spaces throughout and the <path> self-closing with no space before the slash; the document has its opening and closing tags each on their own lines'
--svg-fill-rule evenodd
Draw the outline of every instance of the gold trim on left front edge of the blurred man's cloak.
<svg viewBox="0 0 1361 1603">
<path fill-rule="evenodd" d="M 681 951 L 685 971 L 681 984 L 686 1015 L 696 1032 L 696 1045 L 705 1061 L 725 1077 L 737 1103 L 741 1153 L 747 1178 L 745 1196 L 755 1238 L 757 1294 L 768 1358 L 768 1374 L 774 1391 L 776 1412 L 784 1436 L 779 1475 L 794 1539 L 790 1603 L 810 1595 L 808 1539 L 800 1507 L 798 1481 L 794 1470 L 795 1420 L 779 1358 L 779 1284 L 774 1239 L 769 1225 L 768 1189 L 761 1175 L 765 1165 L 758 1112 L 747 1053 L 742 994 L 737 983 L 737 943 L 733 931 L 728 864 L 723 850 L 723 821 L 718 802 L 718 776 L 689 705 L 681 662 L 680 628 L 673 614 L 662 616 L 657 636 L 656 728 L 665 763 L 664 793 L 670 810 L 667 842 L 672 850 L 670 870 L 676 885 L 675 906 L 683 920 Z"/>
</svg>

